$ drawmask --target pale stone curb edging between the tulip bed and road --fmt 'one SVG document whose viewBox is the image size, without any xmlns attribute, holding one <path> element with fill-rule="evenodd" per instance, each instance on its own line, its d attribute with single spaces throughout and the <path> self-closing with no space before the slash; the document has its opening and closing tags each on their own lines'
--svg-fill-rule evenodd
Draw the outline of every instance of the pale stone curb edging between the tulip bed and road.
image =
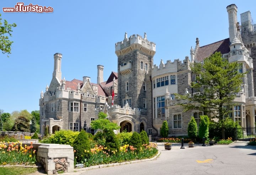
<svg viewBox="0 0 256 175">
<path fill-rule="evenodd" d="M 110 166 L 132 164 L 132 163 L 137 163 L 137 162 L 146 162 L 146 161 L 151 161 L 151 160 L 158 158 L 160 154 L 161 154 L 160 151 L 158 151 L 158 154 L 156 154 L 153 158 L 150 158 L 150 159 L 141 159 L 141 160 L 133 160 L 133 161 L 129 161 L 129 162 L 94 165 L 94 166 L 89 166 L 89 167 L 85 167 L 85 168 L 74 169 L 74 171 L 85 171 L 85 170 L 92 170 L 92 169 L 98 169 L 98 168 L 106 168 L 106 167 L 110 167 Z"/>
</svg>

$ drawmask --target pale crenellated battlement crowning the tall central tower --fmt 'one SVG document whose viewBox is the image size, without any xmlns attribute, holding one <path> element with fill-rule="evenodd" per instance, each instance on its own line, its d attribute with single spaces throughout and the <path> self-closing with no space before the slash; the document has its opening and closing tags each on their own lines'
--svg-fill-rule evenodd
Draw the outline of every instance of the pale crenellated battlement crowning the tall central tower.
<svg viewBox="0 0 256 175">
<path fill-rule="evenodd" d="M 150 50 L 150 51 L 156 51 L 155 49 L 155 43 L 153 42 L 150 42 L 147 37 L 146 37 L 146 33 L 144 33 L 144 38 L 140 35 L 131 35 L 129 38 L 127 38 L 127 33 L 124 34 L 124 40 L 121 41 L 121 42 L 117 42 L 115 44 L 115 48 L 116 48 L 116 54 L 117 54 L 117 51 L 120 51 L 120 50 L 123 50 L 125 48 L 128 48 L 130 46 L 132 46 L 133 44 L 139 44 L 141 45 L 142 47 Z M 137 45 L 136 47 L 133 47 L 131 48 L 130 50 L 133 50 L 133 49 L 139 49 L 138 48 L 139 46 Z"/>
</svg>

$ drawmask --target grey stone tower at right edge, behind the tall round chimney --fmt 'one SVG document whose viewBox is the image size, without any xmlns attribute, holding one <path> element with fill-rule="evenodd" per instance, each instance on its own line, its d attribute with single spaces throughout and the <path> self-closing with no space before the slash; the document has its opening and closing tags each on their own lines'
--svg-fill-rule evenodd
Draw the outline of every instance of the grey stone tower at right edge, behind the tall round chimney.
<svg viewBox="0 0 256 175">
<path fill-rule="evenodd" d="M 241 17 L 241 37 L 245 47 L 250 52 L 253 61 L 253 77 L 256 80 L 256 24 L 251 20 L 251 12 L 247 11 L 240 14 Z M 254 92 L 256 92 L 256 83 L 254 83 Z"/>
</svg>

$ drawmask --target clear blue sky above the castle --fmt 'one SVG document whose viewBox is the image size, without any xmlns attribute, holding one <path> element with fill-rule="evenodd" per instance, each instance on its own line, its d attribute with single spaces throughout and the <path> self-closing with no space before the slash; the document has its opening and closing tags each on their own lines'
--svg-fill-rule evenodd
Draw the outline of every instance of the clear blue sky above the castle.
<svg viewBox="0 0 256 175">
<path fill-rule="evenodd" d="M 2 7 L 50 6 L 52 13 L 4 13 Z M 240 13 L 251 11 L 256 22 L 255 1 L 241 0 L 108 0 L 108 1 L 1 1 L 0 13 L 13 29 L 12 54 L 0 54 L 0 109 L 39 110 L 40 93 L 50 84 L 53 55 L 62 53 L 62 78 L 71 81 L 91 77 L 97 83 L 97 65 L 104 66 L 104 81 L 117 72 L 114 44 L 132 34 L 147 33 L 156 43 L 154 64 L 183 60 L 190 48 L 229 37 L 226 6 L 236 4 Z"/>
</svg>

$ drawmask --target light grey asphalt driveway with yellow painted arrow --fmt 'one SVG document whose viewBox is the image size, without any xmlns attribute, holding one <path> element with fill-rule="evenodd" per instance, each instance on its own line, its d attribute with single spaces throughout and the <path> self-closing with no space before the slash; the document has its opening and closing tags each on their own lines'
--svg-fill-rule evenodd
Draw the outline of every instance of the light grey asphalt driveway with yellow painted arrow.
<svg viewBox="0 0 256 175">
<path fill-rule="evenodd" d="M 180 149 L 181 144 L 173 144 L 164 150 L 158 143 L 158 158 L 126 165 L 98 168 L 74 172 L 76 175 L 255 175 L 256 147 L 246 146 L 247 142 L 231 145 L 214 145 Z M 66 174 L 66 173 L 64 173 Z M 69 174 L 69 173 L 67 173 Z M 72 174 L 72 173 L 70 173 Z"/>
</svg>

